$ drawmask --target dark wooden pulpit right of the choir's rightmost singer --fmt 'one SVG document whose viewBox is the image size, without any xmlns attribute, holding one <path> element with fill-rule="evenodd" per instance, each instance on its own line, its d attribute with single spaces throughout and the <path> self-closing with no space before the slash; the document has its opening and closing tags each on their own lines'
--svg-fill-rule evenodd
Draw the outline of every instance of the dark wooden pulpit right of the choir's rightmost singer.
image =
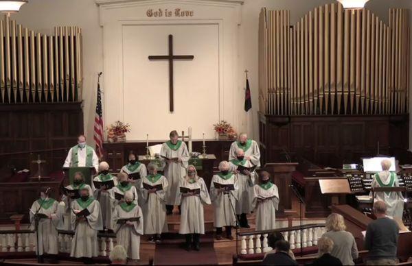
<svg viewBox="0 0 412 266">
<path fill-rule="evenodd" d="M 292 210 L 292 173 L 299 165 L 297 162 L 271 162 L 264 165 L 264 169 L 271 173 L 272 182 L 279 189 L 279 217 L 287 218 L 297 213 Z"/>
</svg>

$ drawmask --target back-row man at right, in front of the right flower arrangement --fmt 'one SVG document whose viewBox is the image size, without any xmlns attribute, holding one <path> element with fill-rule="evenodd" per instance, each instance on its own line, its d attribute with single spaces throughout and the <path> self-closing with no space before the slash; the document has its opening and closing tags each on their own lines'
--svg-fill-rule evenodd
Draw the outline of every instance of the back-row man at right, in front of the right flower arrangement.
<svg viewBox="0 0 412 266">
<path fill-rule="evenodd" d="M 260 167 L 260 149 L 259 145 L 253 139 L 248 139 L 246 133 L 240 133 L 238 141 L 231 144 L 229 150 L 229 160 L 236 159 L 236 151 L 243 149 L 244 159 L 250 160 L 253 165 Z"/>
</svg>

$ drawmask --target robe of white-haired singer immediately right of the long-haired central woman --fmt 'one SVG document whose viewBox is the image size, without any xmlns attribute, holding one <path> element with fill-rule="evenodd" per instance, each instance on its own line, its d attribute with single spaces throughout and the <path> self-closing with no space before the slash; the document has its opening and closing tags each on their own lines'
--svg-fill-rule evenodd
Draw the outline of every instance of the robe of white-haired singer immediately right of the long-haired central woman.
<svg viewBox="0 0 412 266">
<path fill-rule="evenodd" d="M 214 182 L 219 184 L 233 184 L 235 190 L 231 191 L 231 193 L 218 193 Z M 218 173 L 211 178 L 210 199 L 214 205 L 215 227 L 236 226 L 236 216 L 235 213 L 233 213 L 233 208 L 235 208 L 236 200 L 238 200 L 238 189 L 238 177 L 233 173 L 228 173 L 226 176 Z M 231 206 L 231 204 L 233 204 L 233 206 Z"/>
</svg>

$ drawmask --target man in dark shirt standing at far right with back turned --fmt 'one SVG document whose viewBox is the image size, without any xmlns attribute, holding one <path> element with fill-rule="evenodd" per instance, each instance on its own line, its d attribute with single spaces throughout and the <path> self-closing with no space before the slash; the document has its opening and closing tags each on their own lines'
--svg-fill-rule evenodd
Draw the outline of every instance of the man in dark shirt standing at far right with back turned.
<svg viewBox="0 0 412 266">
<path fill-rule="evenodd" d="M 387 217 L 387 205 L 382 200 L 373 208 L 376 220 L 367 225 L 365 250 L 369 250 L 366 265 L 395 265 L 398 263 L 399 226 Z"/>
</svg>

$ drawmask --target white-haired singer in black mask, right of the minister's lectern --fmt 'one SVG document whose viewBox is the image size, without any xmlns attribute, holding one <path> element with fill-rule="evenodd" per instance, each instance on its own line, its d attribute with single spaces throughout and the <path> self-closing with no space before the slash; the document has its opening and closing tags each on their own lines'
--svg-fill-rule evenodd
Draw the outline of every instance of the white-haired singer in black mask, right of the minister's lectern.
<svg viewBox="0 0 412 266">
<path fill-rule="evenodd" d="M 108 182 L 112 181 L 116 185 L 117 182 L 115 177 L 108 173 L 108 163 L 107 162 L 100 162 L 99 165 L 99 175 L 93 178 L 94 182 Z M 102 208 L 102 219 L 103 219 L 103 228 L 104 230 L 108 230 L 109 232 L 113 231 L 112 219 L 111 215 L 114 209 L 114 198 L 113 192 L 108 185 L 102 185 L 100 188 L 96 189 L 93 185 L 93 197 L 99 202 L 100 207 Z"/>
</svg>

